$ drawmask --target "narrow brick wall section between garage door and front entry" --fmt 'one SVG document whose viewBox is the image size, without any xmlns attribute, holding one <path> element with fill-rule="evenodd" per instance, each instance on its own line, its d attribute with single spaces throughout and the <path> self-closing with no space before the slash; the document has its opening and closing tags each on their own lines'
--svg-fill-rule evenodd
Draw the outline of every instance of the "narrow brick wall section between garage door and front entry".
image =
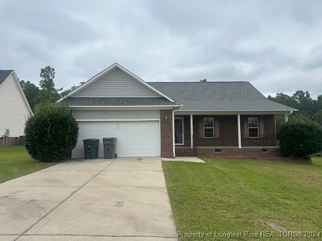
<svg viewBox="0 0 322 241">
<path fill-rule="evenodd" d="M 160 109 L 161 157 L 173 158 L 172 109 Z"/>
</svg>

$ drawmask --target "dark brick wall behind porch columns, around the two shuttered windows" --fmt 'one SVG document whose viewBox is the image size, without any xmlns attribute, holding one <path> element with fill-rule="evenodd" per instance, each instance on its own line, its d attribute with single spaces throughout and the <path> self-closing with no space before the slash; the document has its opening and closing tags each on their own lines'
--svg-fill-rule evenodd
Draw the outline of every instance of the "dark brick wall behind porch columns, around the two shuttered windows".
<svg viewBox="0 0 322 241">
<path fill-rule="evenodd" d="M 190 147 L 190 115 L 184 117 L 184 147 Z M 203 138 L 199 135 L 199 123 L 204 117 L 213 117 L 219 121 L 219 137 Z M 264 137 L 245 138 L 244 120 L 248 117 L 263 119 Z M 275 147 L 275 116 L 270 115 L 240 115 L 241 146 L 242 147 Z M 203 132 L 203 130 L 201 130 Z M 198 147 L 238 147 L 237 115 L 193 115 L 193 136 Z M 182 147 L 182 146 L 181 146 Z"/>
</svg>

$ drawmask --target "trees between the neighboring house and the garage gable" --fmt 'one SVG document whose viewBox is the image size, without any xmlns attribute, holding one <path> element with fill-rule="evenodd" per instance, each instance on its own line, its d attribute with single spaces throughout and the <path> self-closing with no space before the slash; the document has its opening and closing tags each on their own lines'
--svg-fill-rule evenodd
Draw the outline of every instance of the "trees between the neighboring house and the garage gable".
<svg viewBox="0 0 322 241">
<path fill-rule="evenodd" d="M 31 83 L 29 80 L 20 80 L 19 83 L 21 88 L 24 91 L 24 94 L 28 100 L 28 103 L 32 110 L 39 103 L 53 103 L 57 99 L 66 96 L 70 91 L 74 90 L 78 86 L 72 86 L 69 89 L 63 91 L 63 88 L 55 88 L 54 78 L 55 78 L 55 69 L 50 66 L 46 66 L 40 70 L 40 81 L 39 87 Z M 79 85 L 84 84 L 85 82 L 79 83 Z"/>
</svg>

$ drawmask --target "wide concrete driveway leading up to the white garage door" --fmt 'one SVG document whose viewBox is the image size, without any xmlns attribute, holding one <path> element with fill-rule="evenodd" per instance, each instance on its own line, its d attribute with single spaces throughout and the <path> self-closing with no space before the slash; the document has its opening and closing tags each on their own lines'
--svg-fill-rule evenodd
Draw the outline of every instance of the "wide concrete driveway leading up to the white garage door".
<svg viewBox="0 0 322 241">
<path fill-rule="evenodd" d="M 0 184 L 3 240 L 178 240 L 160 158 L 74 160 Z"/>
</svg>

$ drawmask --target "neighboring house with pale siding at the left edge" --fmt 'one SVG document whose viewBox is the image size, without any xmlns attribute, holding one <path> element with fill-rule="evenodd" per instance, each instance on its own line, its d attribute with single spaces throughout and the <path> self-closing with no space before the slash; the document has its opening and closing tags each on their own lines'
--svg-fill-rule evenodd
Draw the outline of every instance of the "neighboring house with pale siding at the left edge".
<svg viewBox="0 0 322 241">
<path fill-rule="evenodd" d="M 10 130 L 8 145 L 19 144 L 24 135 L 25 122 L 32 110 L 19 84 L 14 70 L 0 70 L 0 146 L 6 141 L 2 137 Z"/>
</svg>

